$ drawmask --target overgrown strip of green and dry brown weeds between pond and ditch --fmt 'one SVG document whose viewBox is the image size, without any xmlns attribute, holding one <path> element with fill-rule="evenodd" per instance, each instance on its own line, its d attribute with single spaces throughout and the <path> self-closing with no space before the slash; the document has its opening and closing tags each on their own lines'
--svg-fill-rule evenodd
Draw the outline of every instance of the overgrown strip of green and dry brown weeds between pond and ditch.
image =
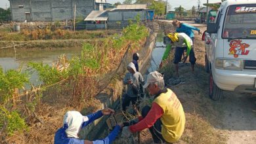
<svg viewBox="0 0 256 144">
<path fill-rule="evenodd" d="M 40 31 L 40 36 L 35 36 L 41 39 L 46 32 Z M 114 77 L 113 71 L 123 62 L 122 58 L 126 58 L 127 48 L 129 53 L 139 50 L 147 36 L 146 27 L 130 24 L 121 36 L 85 43 L 81 56 L 71 60 L 63 55 L 52 66 L 30 62 L 24 73 L 17 70 L 3 73 L 0 69 L 1 141 L 53 143 L 54 132 L 62 126 L 64 113 L 84 107 L 91 109 L 90 112 L 98 109 L 99 101 L 94 96 L 102 90 L 102 77 Z M 33 39 L 33 35 L 31 37 Z M 24 85 L 29 84 L 28 77 L 33 71 L 38 73 L 43 84 L 25 90 Z M 104 85 L 107 84 L 105 81 Z"/>
</svg>

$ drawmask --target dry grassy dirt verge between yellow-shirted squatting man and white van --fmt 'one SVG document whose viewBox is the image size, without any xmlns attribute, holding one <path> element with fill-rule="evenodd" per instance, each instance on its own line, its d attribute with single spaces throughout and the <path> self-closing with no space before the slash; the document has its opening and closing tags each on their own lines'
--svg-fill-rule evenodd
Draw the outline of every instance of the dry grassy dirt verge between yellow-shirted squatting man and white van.
<svg viewBox="0 0 256 144">
<path fill-rule="evenodd" d="M 195 53 L 197 65 L 195 73 L 190 65 L 179 69 L 184 84 L 171 86 L 179 97 L 186 113 L 186 129 L 178 143 L 226 143 L 226 134 L 216 128 L 222 114 L 216 111 L 215 102 L 208 96 L 208 74 L 204 71 L 205 49 L 200 36 L 196 35 Z"/>
</svg>

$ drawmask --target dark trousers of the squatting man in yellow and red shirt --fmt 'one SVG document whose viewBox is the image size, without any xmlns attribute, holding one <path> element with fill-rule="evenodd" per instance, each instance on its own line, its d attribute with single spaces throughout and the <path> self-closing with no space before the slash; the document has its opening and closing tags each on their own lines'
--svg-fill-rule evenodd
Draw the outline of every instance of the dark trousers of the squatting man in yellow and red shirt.
<svg viewBox="0 0 256 144">
<path fill-rule="evenodd" d="M 148 115 L 148 112 L 150 111 L 151 107 L 149 107 L 148 105 L 146 105 L 145 107 L 142 108 L 142 117 L 145 118 L 146 115 Z M 150 133 L 152 135 L 153 141 L 154 143 L 165 143 L 165 139 L 163 139 L 163 135 L 161 135 L 161 120 L 160 118 L 158 120 L 156 120 L 156 122 L 154 123 L 154 125 L 150 128 L 148 128 L 150 130 Z"/>
</svg>

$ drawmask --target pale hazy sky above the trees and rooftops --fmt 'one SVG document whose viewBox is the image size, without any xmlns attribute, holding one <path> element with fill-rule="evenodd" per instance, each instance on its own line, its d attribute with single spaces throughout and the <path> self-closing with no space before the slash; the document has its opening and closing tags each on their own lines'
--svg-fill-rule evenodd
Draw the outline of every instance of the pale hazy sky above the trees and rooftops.
<svg viewBox="0 0 256 144">
<path fill-rule="evenodd" d="M 33 0 L 32 0 L 33 1 Z M 116 3 L 119 1 L 120 3 L 123 3 L 124 0 L 106 0 L 107 3 Z M 135 0 L 133 0 L 134 2 Z M 167 0 L 169 4 L 171 5 L 171 9 L 173 10 L 175 7 L 179 7 L 180 5 L 184 7 L 185 9 L 191 9 L 192 6 L 198 5 L 198 0 Z M 207 0 L 200 0 L 200 4 L 203 5 L 203 3 L 206 3 Z M 221 0 L 209 0 L 209 3 L 216 3 L 220 2 Z M 0 7 L 5 9 L 5 4 L 7 4 L 7 7 L 10 6 L 10 2 L 8 0 L 0 0 Z"/>
</svg>

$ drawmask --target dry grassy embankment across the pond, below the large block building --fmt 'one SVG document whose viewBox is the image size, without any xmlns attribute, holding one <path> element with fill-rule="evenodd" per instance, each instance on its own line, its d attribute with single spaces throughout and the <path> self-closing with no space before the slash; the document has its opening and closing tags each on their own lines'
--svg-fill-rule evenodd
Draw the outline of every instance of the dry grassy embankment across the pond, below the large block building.
<svg viewBox="0 0 256 144">
<path fill-rule="evenodd" d="M 20 32 L 10 32 L 8 27 L 0 27 L 0 45 L 16 48 L 64 48 L 81 47 L 83 43 L 99 41 L 117 33 L 115 30 L 70 31 L 59 27 L 22 28 Z M 118 33 L 121 33 L 118 32 Z M 25 45 L 22 45 L 25 44 Z M 11 47 L 12 48 L 12 47 Z"/>
</svg>

